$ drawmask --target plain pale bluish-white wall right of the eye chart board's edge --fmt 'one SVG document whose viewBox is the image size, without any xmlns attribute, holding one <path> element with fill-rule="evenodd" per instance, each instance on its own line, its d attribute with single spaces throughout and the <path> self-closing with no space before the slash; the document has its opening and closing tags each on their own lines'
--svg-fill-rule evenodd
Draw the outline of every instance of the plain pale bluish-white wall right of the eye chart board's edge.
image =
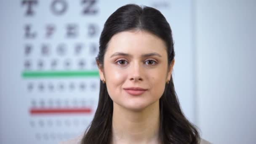
<svg viewBox="0 0 256 144">
<path fill-rule="evenodd" d="M 214 144 L 256 144 L 256 0 L 195 0 L 197 124 Z"/>
</svg>

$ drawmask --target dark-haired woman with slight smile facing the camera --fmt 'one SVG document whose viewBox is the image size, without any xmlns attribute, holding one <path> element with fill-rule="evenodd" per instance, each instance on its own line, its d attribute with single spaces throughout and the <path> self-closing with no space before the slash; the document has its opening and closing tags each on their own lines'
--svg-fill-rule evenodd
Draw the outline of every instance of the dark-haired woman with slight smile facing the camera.
<svg viewBox="0 0 256 144">
<path fill-rule="evenodd" d="M 118 8 L 99 44 L 99 104 L 84 135 L 67 144 L 208 144 L 181 111 L 172 32 L 160 11 Z"/>
</svg>

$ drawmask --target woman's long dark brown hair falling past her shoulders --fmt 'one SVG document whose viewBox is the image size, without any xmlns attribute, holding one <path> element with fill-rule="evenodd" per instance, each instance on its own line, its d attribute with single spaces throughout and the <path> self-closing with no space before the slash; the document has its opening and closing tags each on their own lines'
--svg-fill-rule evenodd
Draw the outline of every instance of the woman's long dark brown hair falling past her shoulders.
<svg viewBox="0 0 256 144">
<path fill-rule="evenodd" d="M 96 61 L 104 67 L 104 54 L 111 37 L 118 32 L 142 30 L 160 37 L 166 45 L 168 66 L 175 53 L 171 27 L 163 14 L 155 8 L 128 4 L 118 8 L 104 24 L 99 40 L 99 53 Z M 112 137 L 113 101 L 107 86 L 100 81 L 99 103 L 91 124 L 85 131 L 82 144 L 109 144 Z M 173 78 L 165 85 L 160 98 L 161 144 L 199 144 L 197 127 L 184 116 L 173 85 Z"/>
</svg>

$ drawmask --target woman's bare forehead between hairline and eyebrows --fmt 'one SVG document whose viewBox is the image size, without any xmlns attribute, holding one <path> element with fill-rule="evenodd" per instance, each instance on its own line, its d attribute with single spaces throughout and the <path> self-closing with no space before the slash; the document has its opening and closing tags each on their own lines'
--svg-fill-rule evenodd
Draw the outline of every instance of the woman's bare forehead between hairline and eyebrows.
<svg viewBox="0 0 256 144">
<path fill-rule="evenodd" d="M 146 31 L 125 31 L 115 34 L 108 43 L 108 54 L 166 53 L 166 46 L 159 37 Z M 106 54 L 107 54 L 106 53 Z"/>
</svg>

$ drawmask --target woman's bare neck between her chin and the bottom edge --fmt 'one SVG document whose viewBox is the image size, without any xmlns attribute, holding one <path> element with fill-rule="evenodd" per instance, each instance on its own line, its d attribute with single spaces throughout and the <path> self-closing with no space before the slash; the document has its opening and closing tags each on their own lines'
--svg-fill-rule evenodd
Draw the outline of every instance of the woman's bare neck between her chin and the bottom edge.
<svg viewBox="0 0 256 144">
<path fill-rule="evenodd" d="M 159 101 L 134 112 L 113 105 L 112 144 L 158 144 Z"/>
</svg>

